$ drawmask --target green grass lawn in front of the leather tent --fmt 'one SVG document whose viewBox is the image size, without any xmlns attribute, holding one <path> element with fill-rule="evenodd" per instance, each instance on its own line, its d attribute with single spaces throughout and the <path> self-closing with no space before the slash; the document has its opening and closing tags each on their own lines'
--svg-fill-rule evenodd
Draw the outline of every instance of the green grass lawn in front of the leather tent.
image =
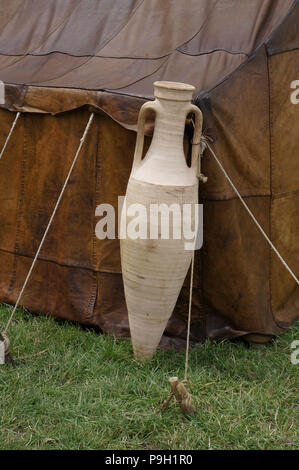
<svg viewBox="0 0 299 470">
<path fill-rule="evenodd" d="M 3 326 L 11 308 L 0 307 Z M 191 349 L 188 419 L 167 397 L 184 352 L 150 364 L 131 344 L 19 309 L 9 331 L 15 368 L 0 366 L 0 449 L 297 449 L 298 324 L 260 350 L 241 342 Z M 38 354 L 44 351 L 42 354 Z M 297 414 L 296 414 L 297 413 Z"/>
</svg>

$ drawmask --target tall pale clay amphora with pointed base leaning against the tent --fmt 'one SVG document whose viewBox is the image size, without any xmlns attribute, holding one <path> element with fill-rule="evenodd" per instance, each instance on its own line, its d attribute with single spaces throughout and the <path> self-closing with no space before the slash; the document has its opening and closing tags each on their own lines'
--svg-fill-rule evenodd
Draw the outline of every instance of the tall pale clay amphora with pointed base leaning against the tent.
<svg viewBox="0 0 299 470">
<path fill-rule="evenodd" d="M 192 259 L 185 228 L 186 224 L 195 228 L 198 203 L 202 114 L 191 104 L 194 87 L 155 82 L 154 89 L 155 100 L 140 109 L 133 167 L 121 215 L 122 275 L 137 360 L 153 357 L 175 307 Z M 155 113 L 155 126 L 151 145 L 142 158 L 148 110 Z M 183 139 L 190 113 L 195 116 L 195 130 L 188 166 Z"/>
</svg>

